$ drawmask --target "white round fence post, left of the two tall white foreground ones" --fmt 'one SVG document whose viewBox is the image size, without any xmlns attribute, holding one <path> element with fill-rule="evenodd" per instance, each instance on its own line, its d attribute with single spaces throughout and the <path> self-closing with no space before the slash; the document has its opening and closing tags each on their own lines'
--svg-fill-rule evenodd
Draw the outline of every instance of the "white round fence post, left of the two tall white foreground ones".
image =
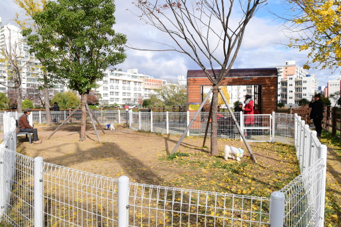
<svg viewBox="0 0 341 227">
<path fill-rule="evenodd" d="M 43 211 L 44 211 L 44 200 L 43 200 L 43 176 L 41 163 L 43 158 L 36 157 L 34 159 L 34 226 L 43 227 Z"/>
</svg>

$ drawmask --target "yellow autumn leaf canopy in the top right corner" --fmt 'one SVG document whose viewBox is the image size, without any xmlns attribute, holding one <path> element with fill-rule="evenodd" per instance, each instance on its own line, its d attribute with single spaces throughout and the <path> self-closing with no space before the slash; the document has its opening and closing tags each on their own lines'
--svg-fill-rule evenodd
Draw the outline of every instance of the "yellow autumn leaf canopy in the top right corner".
<svg viewBox="0 0 341 227">
<path fill-rule="evenodd" d="M 286 20 L 284 32 L 290 38 L 289 47 L 308 50 L 303 68 L 330 69 L 341 66 L 341 4 L 339 0 L 286 1 L 290 13 L 280 16 Z"/>
</svg>

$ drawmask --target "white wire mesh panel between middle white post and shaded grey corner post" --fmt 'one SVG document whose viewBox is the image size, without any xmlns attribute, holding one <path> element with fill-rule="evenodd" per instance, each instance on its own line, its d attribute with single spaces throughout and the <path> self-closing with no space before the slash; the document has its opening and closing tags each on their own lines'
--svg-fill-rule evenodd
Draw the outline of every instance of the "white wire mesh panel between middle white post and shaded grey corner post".
<svg viewBox="0 0 341 227">
<path fill-rule="evenodd" d="M 269 198 L 130 183 L 129 226 L 263 226 Z"/>
</svg>

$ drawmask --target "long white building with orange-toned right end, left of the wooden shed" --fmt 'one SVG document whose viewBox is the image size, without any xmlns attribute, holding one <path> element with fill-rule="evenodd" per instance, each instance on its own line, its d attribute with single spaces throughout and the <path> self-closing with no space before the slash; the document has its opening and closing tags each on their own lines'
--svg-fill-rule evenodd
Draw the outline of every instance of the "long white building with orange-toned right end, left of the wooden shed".
<svg viewBox="0 0 341 227">
<path fill-rule="evenodd" d="M 103 106 L 117 104 L 138 105 L 140 100 L 158 96 L 158 90 L 166 84 L 165 80 L 154 79 L 150 75 L 138 73 L 138 69 L 128 69 L 127 72 L 106 70 L 103 81 L 95 93 L 101 94 Z"/>
</svg>

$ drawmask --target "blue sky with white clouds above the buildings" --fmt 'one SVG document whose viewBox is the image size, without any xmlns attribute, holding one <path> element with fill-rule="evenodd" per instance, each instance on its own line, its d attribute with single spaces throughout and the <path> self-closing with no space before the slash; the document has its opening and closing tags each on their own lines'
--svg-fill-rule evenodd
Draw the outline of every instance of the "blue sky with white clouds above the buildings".
<svg viewBox="0 0 341 227">
<path fill-rule="evenodd" d="M 115 1 L 115 31 L 126 34 L 128 42 L 135 47 L 158 47 L 147 40 L 168 42 L 169 38 L 166 34 L 160 33 L 152 27 L 143 26 L 141 20 L 130 12 L 138 13 L 131 2 L 129 0 Z M 2 17 L 3 24 L 11 22 L 10 20 L 14 17 L 14 14 L 20 12 L 20 9 L 12 0 L 0 0 L 0 9 L 0 17 Z M 130 9 L 130 11 L 127 9 Z M 301 67 L 305 63 L 306 53 L 298 52 L 296 49 L 287 49 L 276 44 L 281 41 L 285 43 L 288 39 L 281 32 L 282 21 L 276 19 L 274 15 L 268 12 L 269 10 L 277 14 L 286 12 L 281 2 L 277 0 L 270 0 L 266 6 L 259 9 L 247 26 L 243 43 L 233 68 L 284 65 L 287 60 L 295 60 L 296 64 Z M 188 69 L 199 69 L 195 62 L 180 53 L 145 52 L 132 49 L 126 53 L 128 55 L 127 60 L 123 64 L 116 66 L 123 71 L 127 71 L 129 68 L 138 68 L 139 73 L 152 75 L 155 78 L 176 79 L 179 74 L 186 75 Z M 310 72 L 315 74 L 315 77 L 320 80 L 320 85 L 326 85 L 323 82 L 335 78 L 326 78 L 327 70 L 311 70 Z"/>
</svg>

